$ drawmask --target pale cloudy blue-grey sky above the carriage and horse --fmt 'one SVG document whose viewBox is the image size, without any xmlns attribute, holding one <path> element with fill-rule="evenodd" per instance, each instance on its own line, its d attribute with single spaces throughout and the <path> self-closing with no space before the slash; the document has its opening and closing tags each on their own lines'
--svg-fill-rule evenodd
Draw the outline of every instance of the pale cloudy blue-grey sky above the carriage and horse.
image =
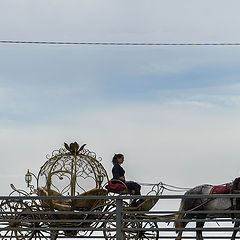
<svg viewBox="0 0 240 240">
<path fill-rule="evenodd" d="M 239 1 L 2 0 L 1 40 L 239 42 Z M 239 46 L 0 45 L 1 195 L 64 142 L 111 177 L 193 187 L 240 175 Z M 167 192 L 166 192 L 167 194 Z"/>
</svg>

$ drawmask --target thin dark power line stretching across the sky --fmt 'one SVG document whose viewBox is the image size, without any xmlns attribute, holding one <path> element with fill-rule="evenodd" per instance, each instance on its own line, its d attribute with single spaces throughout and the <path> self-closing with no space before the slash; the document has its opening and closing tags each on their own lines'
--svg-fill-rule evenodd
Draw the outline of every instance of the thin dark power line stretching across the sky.
<svg viewBox="0 0 240 240">
<path fill-rule="evenodd" d="M 158 43 L 158 42 L 63 42 L 63 41 L 15 41 L 0 40 L 0 44 L 40 44 L 40 45 L 102 45 L 102 46 L 240 46 L 235 43 Z"/>
</svg>

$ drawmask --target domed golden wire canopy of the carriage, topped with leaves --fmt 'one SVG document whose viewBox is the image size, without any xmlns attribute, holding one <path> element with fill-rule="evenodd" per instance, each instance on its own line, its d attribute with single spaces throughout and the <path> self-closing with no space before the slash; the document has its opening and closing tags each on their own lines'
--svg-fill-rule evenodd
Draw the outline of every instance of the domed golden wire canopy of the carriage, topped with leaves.
<svg viewBox="0 0 240 240">
<path fill-rule="evenodd" d="M 27 171 L 25 182 L 30 194 L 36 192 L 32 184 L 37 182 L 37 190 L 45 189 L 48 193 L 55 191 L 63 196 L 76 196 L 93 188 L 102 188 L 108 182 L 108 175 L 101 158 L 94 152 L 79 146 L 77 142 L 64 143 L 64 147 L 47 155 L 47 161 L 37 175 Z"/>
</svg>

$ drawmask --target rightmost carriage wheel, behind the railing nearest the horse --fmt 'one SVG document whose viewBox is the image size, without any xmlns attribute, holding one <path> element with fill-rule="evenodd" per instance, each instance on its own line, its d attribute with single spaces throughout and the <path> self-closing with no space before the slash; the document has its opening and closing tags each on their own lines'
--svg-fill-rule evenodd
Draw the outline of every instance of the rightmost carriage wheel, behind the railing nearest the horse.
<svg viewBox="0 0 240 240">
<path fill-rule="evenodd" d="M 144 229 L 142 231 L 139 231 L 138 239 L 141 240 L 147 240 L 147 239 L 158 239 L 159 238 L 159 231 L 154 230 L 154 228 L 158 228 L 158 225 L 156 222 L 141 222 L 140 228 Z M 150 228 L 152 230 L 150 230 Z M 149 229 L 149 230 L 148 230 Z"/>
</svg>

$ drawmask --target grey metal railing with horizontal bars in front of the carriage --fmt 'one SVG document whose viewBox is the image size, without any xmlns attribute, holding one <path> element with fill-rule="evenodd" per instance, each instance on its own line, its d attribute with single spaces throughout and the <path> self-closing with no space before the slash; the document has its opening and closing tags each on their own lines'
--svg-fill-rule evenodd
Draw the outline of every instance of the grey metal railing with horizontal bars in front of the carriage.
<svg viewBox="0 0 240 240">
<path fill-rule="evenodd" d="M 0 197 L 0 237 L 1 239 L 175 239 L 176 231 L 183 231 L 183 239 L 196 239 L 195 232 L 203 231 L 204 239 L 229 239 L 234 230 L 240 230 L 235 223 L 240 222 L 240 211 L 203 210 L 199 208 L 178 211 L 181 199 L 232 199 L 236 194 L 224 195 L 161 195 L 161 196 L 79 196 L 79 197 Z M 159 200 L 149 211 L 127 207 L 132 199 Z M 59 210 L 54 201 L 96 200 L 91 209 Z M 43 205 L 44 201 L 44 205 Z M 174 210 L 169 210 L 170 201 L 177 201 Z M 228 201 L 228 200 L 227 200 Z M 46 202 L 49 205 L 46 205 Z M 165 202 L 165 209 L 162 203 Z M 206 202 L 207 203 L 207 202 Z M 144 204 L 144 202 L 142 203 Z M 173 205 L 173 204 L 172 204 Z M 61 206 L 61 204 L 60 204 Z M 156 210 L 162 209 L 162 210 Z M 175 217 L 179 214 L 188 218 Z M 206 218 L 206 215 L 208 216 Z M 190 217 L 189 217 L 190 216 Z M 209 217 L 211 216 L 211 217 Z M 214 217 L 215 216 L 215 217 Z M 217 217 L 216 217 L 217 216 Z M 189 223 L 187 227 L 175 227 L 174 223 Z M 207 226 L 195 226 L 206 223 Z M 218 225 L 216 224 L 218 223 Z M 236 238 L 240 238 L 237 236 Z"/>
</svg>

